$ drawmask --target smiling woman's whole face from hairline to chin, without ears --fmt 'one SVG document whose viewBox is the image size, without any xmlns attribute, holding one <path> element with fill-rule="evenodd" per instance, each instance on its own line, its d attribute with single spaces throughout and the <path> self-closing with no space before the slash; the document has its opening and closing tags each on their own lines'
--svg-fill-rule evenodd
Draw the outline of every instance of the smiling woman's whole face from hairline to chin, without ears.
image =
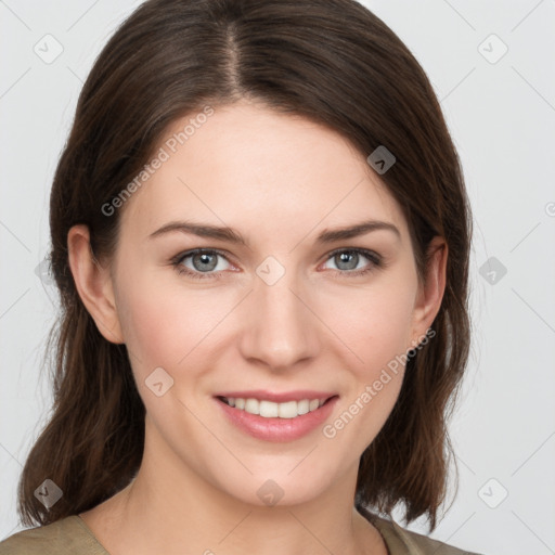
<svg viewBox="0 0 555 555">
<path fill-rule="evenodd" d="M 247 503 L 315 499 L 356 473 L 433 319 L 406 221 L 344 138 L 260 105 L 160 146 L 111 269 L 150 460 Z"/>
</svg>

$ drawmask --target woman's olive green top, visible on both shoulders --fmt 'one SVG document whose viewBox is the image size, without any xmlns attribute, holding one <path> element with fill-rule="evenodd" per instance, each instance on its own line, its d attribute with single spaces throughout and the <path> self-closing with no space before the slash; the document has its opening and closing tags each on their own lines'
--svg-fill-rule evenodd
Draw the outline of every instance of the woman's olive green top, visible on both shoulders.
<svg viewBox="0 0 555 555">
<path fill-rule="evenodd" d="M 416 532 L 397 522 L 364 515 L 379 530 L 389 555 L 479 555 Z M 109 555 L 78 515 L 14 533 L 0 542 L 0 555 Z"/>
</svg>

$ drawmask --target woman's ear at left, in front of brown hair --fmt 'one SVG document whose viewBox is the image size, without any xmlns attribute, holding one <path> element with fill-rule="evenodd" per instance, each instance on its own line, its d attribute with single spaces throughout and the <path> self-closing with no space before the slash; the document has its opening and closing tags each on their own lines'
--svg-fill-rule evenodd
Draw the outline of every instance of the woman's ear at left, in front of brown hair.
<svg viewBox="0 0 555 555">
<path fill-rule="evenodd" d="M 102 267 L 94 257 L 87 225 L 74 225 L 69 230 L 67 250 L 77 293 L 96 323 L 99 332 L 111 343 L 125 343 L 109 268 Z"/>
</svg>

